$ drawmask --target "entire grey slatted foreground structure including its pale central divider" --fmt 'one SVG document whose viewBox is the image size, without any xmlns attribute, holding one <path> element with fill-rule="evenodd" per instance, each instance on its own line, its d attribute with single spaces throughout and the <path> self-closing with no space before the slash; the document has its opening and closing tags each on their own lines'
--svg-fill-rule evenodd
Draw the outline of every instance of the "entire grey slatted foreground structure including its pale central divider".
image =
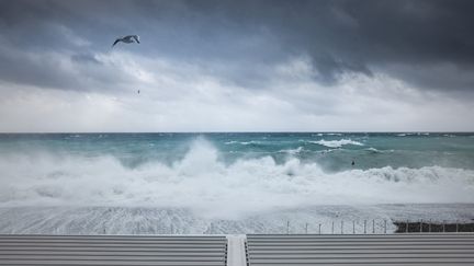
<svg viewBox="0 0 474 266">
<path fill-rule="evenodd" d="M 0 265 L 459 266 L 474 265 L 474 234 L 3 234 Z"/>
</svg>

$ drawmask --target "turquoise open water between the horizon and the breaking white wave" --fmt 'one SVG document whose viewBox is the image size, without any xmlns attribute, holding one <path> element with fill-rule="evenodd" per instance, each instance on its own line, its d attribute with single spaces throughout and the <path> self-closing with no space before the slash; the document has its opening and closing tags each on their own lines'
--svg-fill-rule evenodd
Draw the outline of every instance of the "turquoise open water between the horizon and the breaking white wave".
<svg viewBox="0 0 474 266">
<path fill-rule="evenodd" d="M 383 166 L 474 169 L 474 134 L 469 132 L 4 134 L 0 135 L 0 155 L 110 155 L 134 169 L 150 162 L 171 165 L 196 140 L 211 143 L 225 164 L 270 157 L 278 164 L 289 158 L 317 163 L 327 172 Z"/>
</svg>

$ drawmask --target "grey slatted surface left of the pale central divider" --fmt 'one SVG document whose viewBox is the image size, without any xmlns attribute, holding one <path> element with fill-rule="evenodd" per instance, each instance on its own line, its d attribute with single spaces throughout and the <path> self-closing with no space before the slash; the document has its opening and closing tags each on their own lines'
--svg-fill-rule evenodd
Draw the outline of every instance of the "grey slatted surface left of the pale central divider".
<svg viewBox="0 0 474 266">
<path fill-rule="evenodd" d="M 0 265 L 225 266 L 225 236 L 0 235 Z"/>
</svg>

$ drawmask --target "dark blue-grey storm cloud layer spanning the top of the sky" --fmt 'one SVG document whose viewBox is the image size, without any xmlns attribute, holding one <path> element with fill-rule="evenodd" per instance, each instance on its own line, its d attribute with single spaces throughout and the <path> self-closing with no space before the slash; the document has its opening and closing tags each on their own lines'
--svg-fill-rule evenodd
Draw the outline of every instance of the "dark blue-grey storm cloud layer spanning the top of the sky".
<svg viewBox="0 0 474 266">
<path fill-rule="evenodd" d="M 133 53 L 232 65 L 208 72 L 242 86 L 263 86 L 272 79 L 268 66 L 305 55 L 323 84 L 343 73 L 382 72 L 419 88 L 466 91 L 474 86 L 473 11 L 469 0 L 3 0 L 0 42 L 23 53 L 64 51 L 74 63 L 100 65 L 94 54 L 109 53 L 116 36 L 134 33 L 144 42 Z M 56 77 L 61 71 L 0 57 L 2 80 L 67 83 L 55 81 L 63 80 Z"/>
</svg>

